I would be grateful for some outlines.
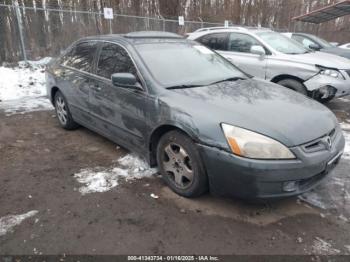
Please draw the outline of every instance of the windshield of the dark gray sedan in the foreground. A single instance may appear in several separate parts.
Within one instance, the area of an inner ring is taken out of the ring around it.
[[[190,42],[136,45],[153,77],[164,87],[202,86],[248,78],[205,46]]]

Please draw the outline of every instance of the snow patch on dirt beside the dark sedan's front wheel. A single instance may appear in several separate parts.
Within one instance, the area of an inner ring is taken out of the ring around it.
[[[117,160],[118,166],[112,168],[86,168],[74,177],[81,184],[79,192],[82,195],[95,192],[106,192],[116,187],[120,179],[126,181],[151,177],[157,172],[140,158],[129,154]]]

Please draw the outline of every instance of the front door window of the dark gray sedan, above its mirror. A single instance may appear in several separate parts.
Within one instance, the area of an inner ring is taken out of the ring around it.
[[[131,73],[136,68],[127,51],[117,44],[104,44],[97,65],[97,75],[111,79],[114,73]]]

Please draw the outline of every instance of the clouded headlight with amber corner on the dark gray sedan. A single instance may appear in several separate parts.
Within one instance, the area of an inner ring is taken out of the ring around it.
[[[255,159],[295,159],[294,154],[280,142],[258,133],[221,124],[232,152]]]

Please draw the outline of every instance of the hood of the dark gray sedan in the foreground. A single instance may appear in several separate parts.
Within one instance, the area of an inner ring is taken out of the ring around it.
[[[191,125],[195,124],[198,136],[206,141],[222,141],[217,128],[227,123],[292,147],[322,137],[337,125],[334,114],[322,104],[265,80],[223,82],[167,93],[166,103],[191,116]]]

